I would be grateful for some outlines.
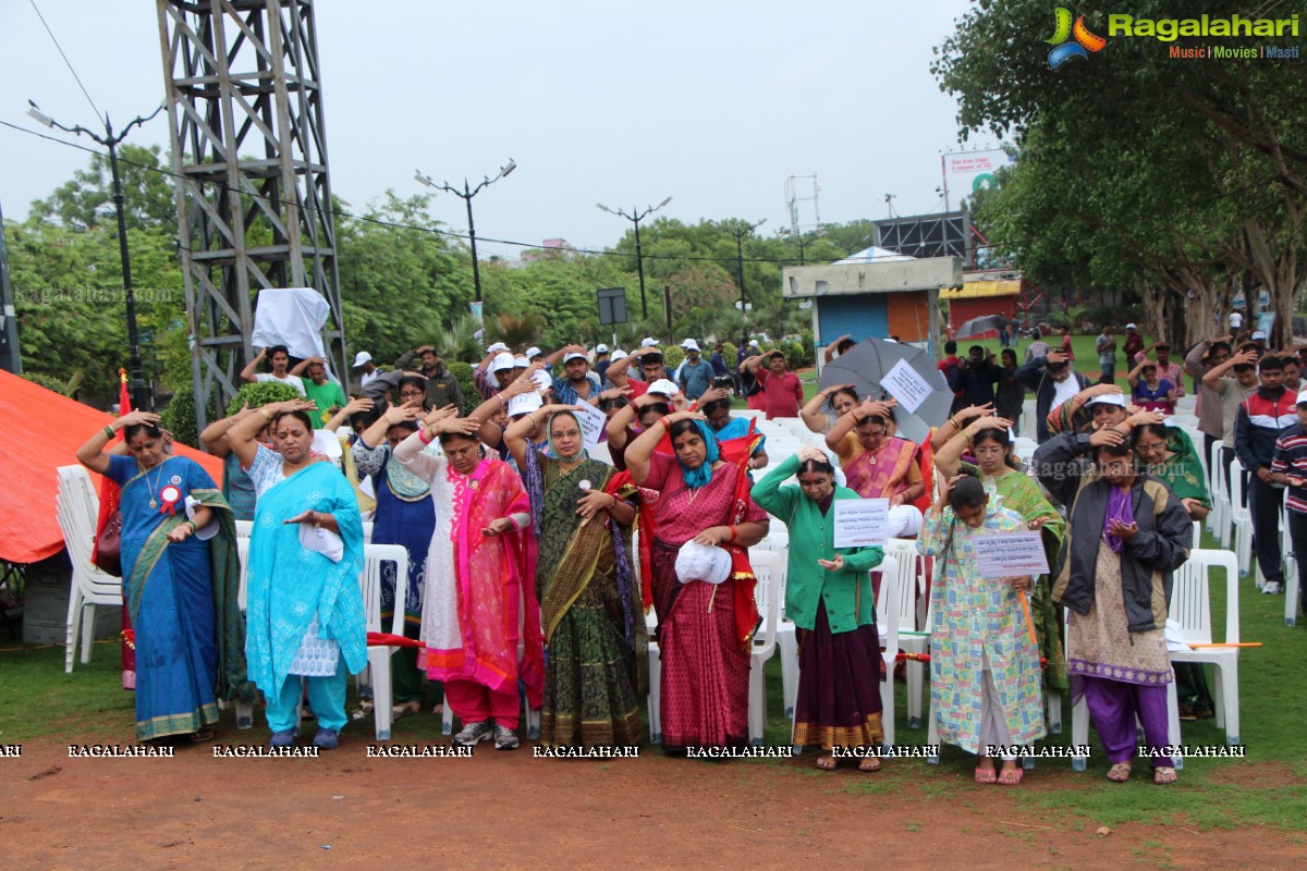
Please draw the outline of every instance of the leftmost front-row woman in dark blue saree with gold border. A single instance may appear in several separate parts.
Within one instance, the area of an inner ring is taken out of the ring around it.
[[[123,590],[136,635],[136,739],[213,738],[220,699],[252,700],[237,607],[231,509],[209,474],[163,451],[158,415],[132,411],[77,460],[122,487]],[[128,453],[105,448],[122,432]]]

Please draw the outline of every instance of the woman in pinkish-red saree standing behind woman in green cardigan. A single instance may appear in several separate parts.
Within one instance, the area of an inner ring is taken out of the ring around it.
[[[826,447],[839,457],[850,490],[863,499],[889,499],[890,507],[910,505],[925,495],[919,448],[890,435],[894,409],[887,402],[863,402],[826,434]]]

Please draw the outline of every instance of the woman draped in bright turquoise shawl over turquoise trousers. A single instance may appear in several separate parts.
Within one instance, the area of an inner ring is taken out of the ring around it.
[[[363,524],[345,477],[310,451],[303,400],[276,402],[227,434],[257,503],[246,569],[246,657],[268,704],[272,747],[294,743],[299,679],[318,716],[314,746],[335,750],[346,722],[345,687],[367,665],[358,573]],[[269,424],[277,451],[255,440]]]

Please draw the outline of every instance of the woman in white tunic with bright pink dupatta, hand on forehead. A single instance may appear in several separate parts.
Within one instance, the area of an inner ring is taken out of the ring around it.
[[[531,503],[508,464],[481,457],[476,428],[464,418],[427,418],[395,448],[395,460],[430,482],[435,501],[425,555],[423,661],[427,676],[444,682],[446,703],[463,723],[454,743],[493,738],[495,750],[514,750],[518,680],[532,708],[540,708],[544,689],[540,607],[520,534],[531,524]],[[429,453],[437,437],[442,453]]]

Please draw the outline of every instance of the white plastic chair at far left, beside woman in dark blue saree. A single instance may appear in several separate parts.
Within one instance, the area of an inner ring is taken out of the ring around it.
[[[123,578],[102,572],[90,562],[95,521],[99,516],[99,498],[91,486],[90,474],[82,466],[59,467],[59,495],[55,504],[59,529],[68,548],[68,562],[73,565],[64,632],[64,673],[71,674],[78,636],[81,636],[82,665],[90,662],[90,645],[95,635],[95,606],[125,607],[125,603]]]

